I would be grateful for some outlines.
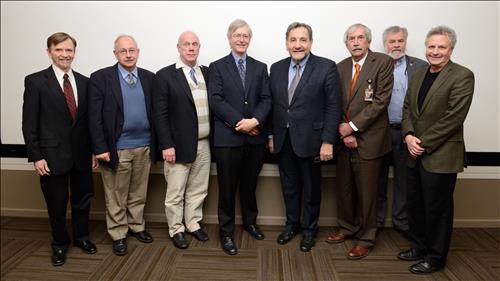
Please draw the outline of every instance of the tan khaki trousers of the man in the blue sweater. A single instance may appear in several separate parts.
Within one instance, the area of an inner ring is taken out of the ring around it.
[[[106,199],[106,224],[111,239],[127,237],[128,229],[143,231],[144,205],[151,160],[149,147],[118,150],[116,170],[101,167]]]

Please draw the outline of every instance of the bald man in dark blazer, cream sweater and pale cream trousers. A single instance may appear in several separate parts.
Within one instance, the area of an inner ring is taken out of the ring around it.
[[[208,240],[200,227],[210,176],[208,68],[198,65],[200,40],[194,32],[179,36],[177,50],[177,62],[153,79],[153,120],[165,161],[169,235],[176,247],[186,249],[186,229],[196,239]]]

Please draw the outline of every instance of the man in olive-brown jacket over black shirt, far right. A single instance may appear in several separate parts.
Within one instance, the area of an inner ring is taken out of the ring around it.
[[[453,230],[453,191],[466,165],[463,123],[472,103],[474,74],[450,60],[453,29],[432,28],[425,40],[429,68],[410,81],[403,107],[408,146],[408,223],[411,249],[398,254],[418,261],[416,274],[441,270]]]

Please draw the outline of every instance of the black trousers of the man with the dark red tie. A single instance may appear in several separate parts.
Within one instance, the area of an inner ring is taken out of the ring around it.
[[[90,200],[94,196],[92,173],[77,171],[73,167],[65,175],[40,177],[40,186],[52,227],[52,246],[65,247],[71,241],[66,230],[68,197],[71,203],[73,239],[88,239]]]

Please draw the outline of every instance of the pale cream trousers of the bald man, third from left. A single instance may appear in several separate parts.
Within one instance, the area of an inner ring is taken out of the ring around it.
[[[208,139],[198,141],[193,163],[171,164],[165,161],[165,215],[170,237],[176,233],[200,229],[203,201],[208,192],[210,176],[210,145]],[[184,219],[184,224],[182,220]]]

